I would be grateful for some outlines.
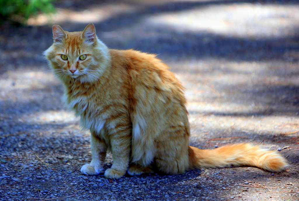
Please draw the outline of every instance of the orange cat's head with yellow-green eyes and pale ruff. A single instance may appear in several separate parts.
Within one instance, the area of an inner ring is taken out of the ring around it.
[[[91,23],[84,31],[68,32],[53,26],[54,43],[44,52],[54,74],[63,81],[82,82],[100,79],[110,61],[109,50],[95,33]]]

